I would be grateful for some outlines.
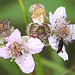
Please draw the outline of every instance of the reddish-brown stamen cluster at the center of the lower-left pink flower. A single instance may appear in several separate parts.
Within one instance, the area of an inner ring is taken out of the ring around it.
[[[24,44],[20,42],[13,42],[9,46],[10,56],[12,58],[18,57],[26,52]]]

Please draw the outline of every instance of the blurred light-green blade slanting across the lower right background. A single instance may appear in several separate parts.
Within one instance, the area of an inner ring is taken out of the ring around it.
[[[58,71],[59,75],[61,75],[61,74],[63,74],[63,73],[68,71],[67,68],[65,68],[65,67],[63,67],[63,66],[61,66],[61,65],[59,65],[59,64],[57,64],[55,62],[49,61],[49,60],[47,60],[45,58],[41,58],[41,61],[42,61],[42,64],[44,66],[46,66],[46,67],[48,67],[48,68],[50,68],[52,70]],[[74,74],[75,74],[75,72],[73,72],[73,71],[69,72],[69,75],[74,75]]]

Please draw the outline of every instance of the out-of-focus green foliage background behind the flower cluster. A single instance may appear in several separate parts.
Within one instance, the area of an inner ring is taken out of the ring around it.
[[[29,7],[33,3],[41,3],[46,12],[54,13],[56,8],[66,8],[67,20],[75,24],[75,0],[23,0],[27,16],[30,17]],[[25,35],[25,22],[18,0],[0,0],[0,19],[10,18],[10,24]],[[66,46],[69,60],[64,61],[51,47],[44,47],[40,53],[44,75],[75,75],[75,41]],[[35,62],[36,63],[36,62]],[[0,75],[25,75],[10,59],[0,58]]]

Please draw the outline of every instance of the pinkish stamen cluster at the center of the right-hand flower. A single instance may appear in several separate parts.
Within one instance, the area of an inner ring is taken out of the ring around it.
[[[61,37],[66,38],[69,35],[70,29],[67,27],[68,24],[69,22],[67,22],[66,20],[62,18],[56,21],[55,35],[57,39]]]

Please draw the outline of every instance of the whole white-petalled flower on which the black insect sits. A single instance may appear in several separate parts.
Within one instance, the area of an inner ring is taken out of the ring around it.
[[[75,25],[69,25],[70,21],[68,22],[65,20],[67,17],[65,7],[57,8],[54,14],[50,12],[49,17],[52,35],[48,38],[48,40],[51,47],[57,52],[59,49],[59,40],[61,38],[63,38],[62,41],[66,44],[68,42],[71,42],[71,40],[75,40]],[[65,61],[68,60],[68,54],[65,51],[64,45],[62,46],[61,51],[58,53],[58,55],[62,57]]]

